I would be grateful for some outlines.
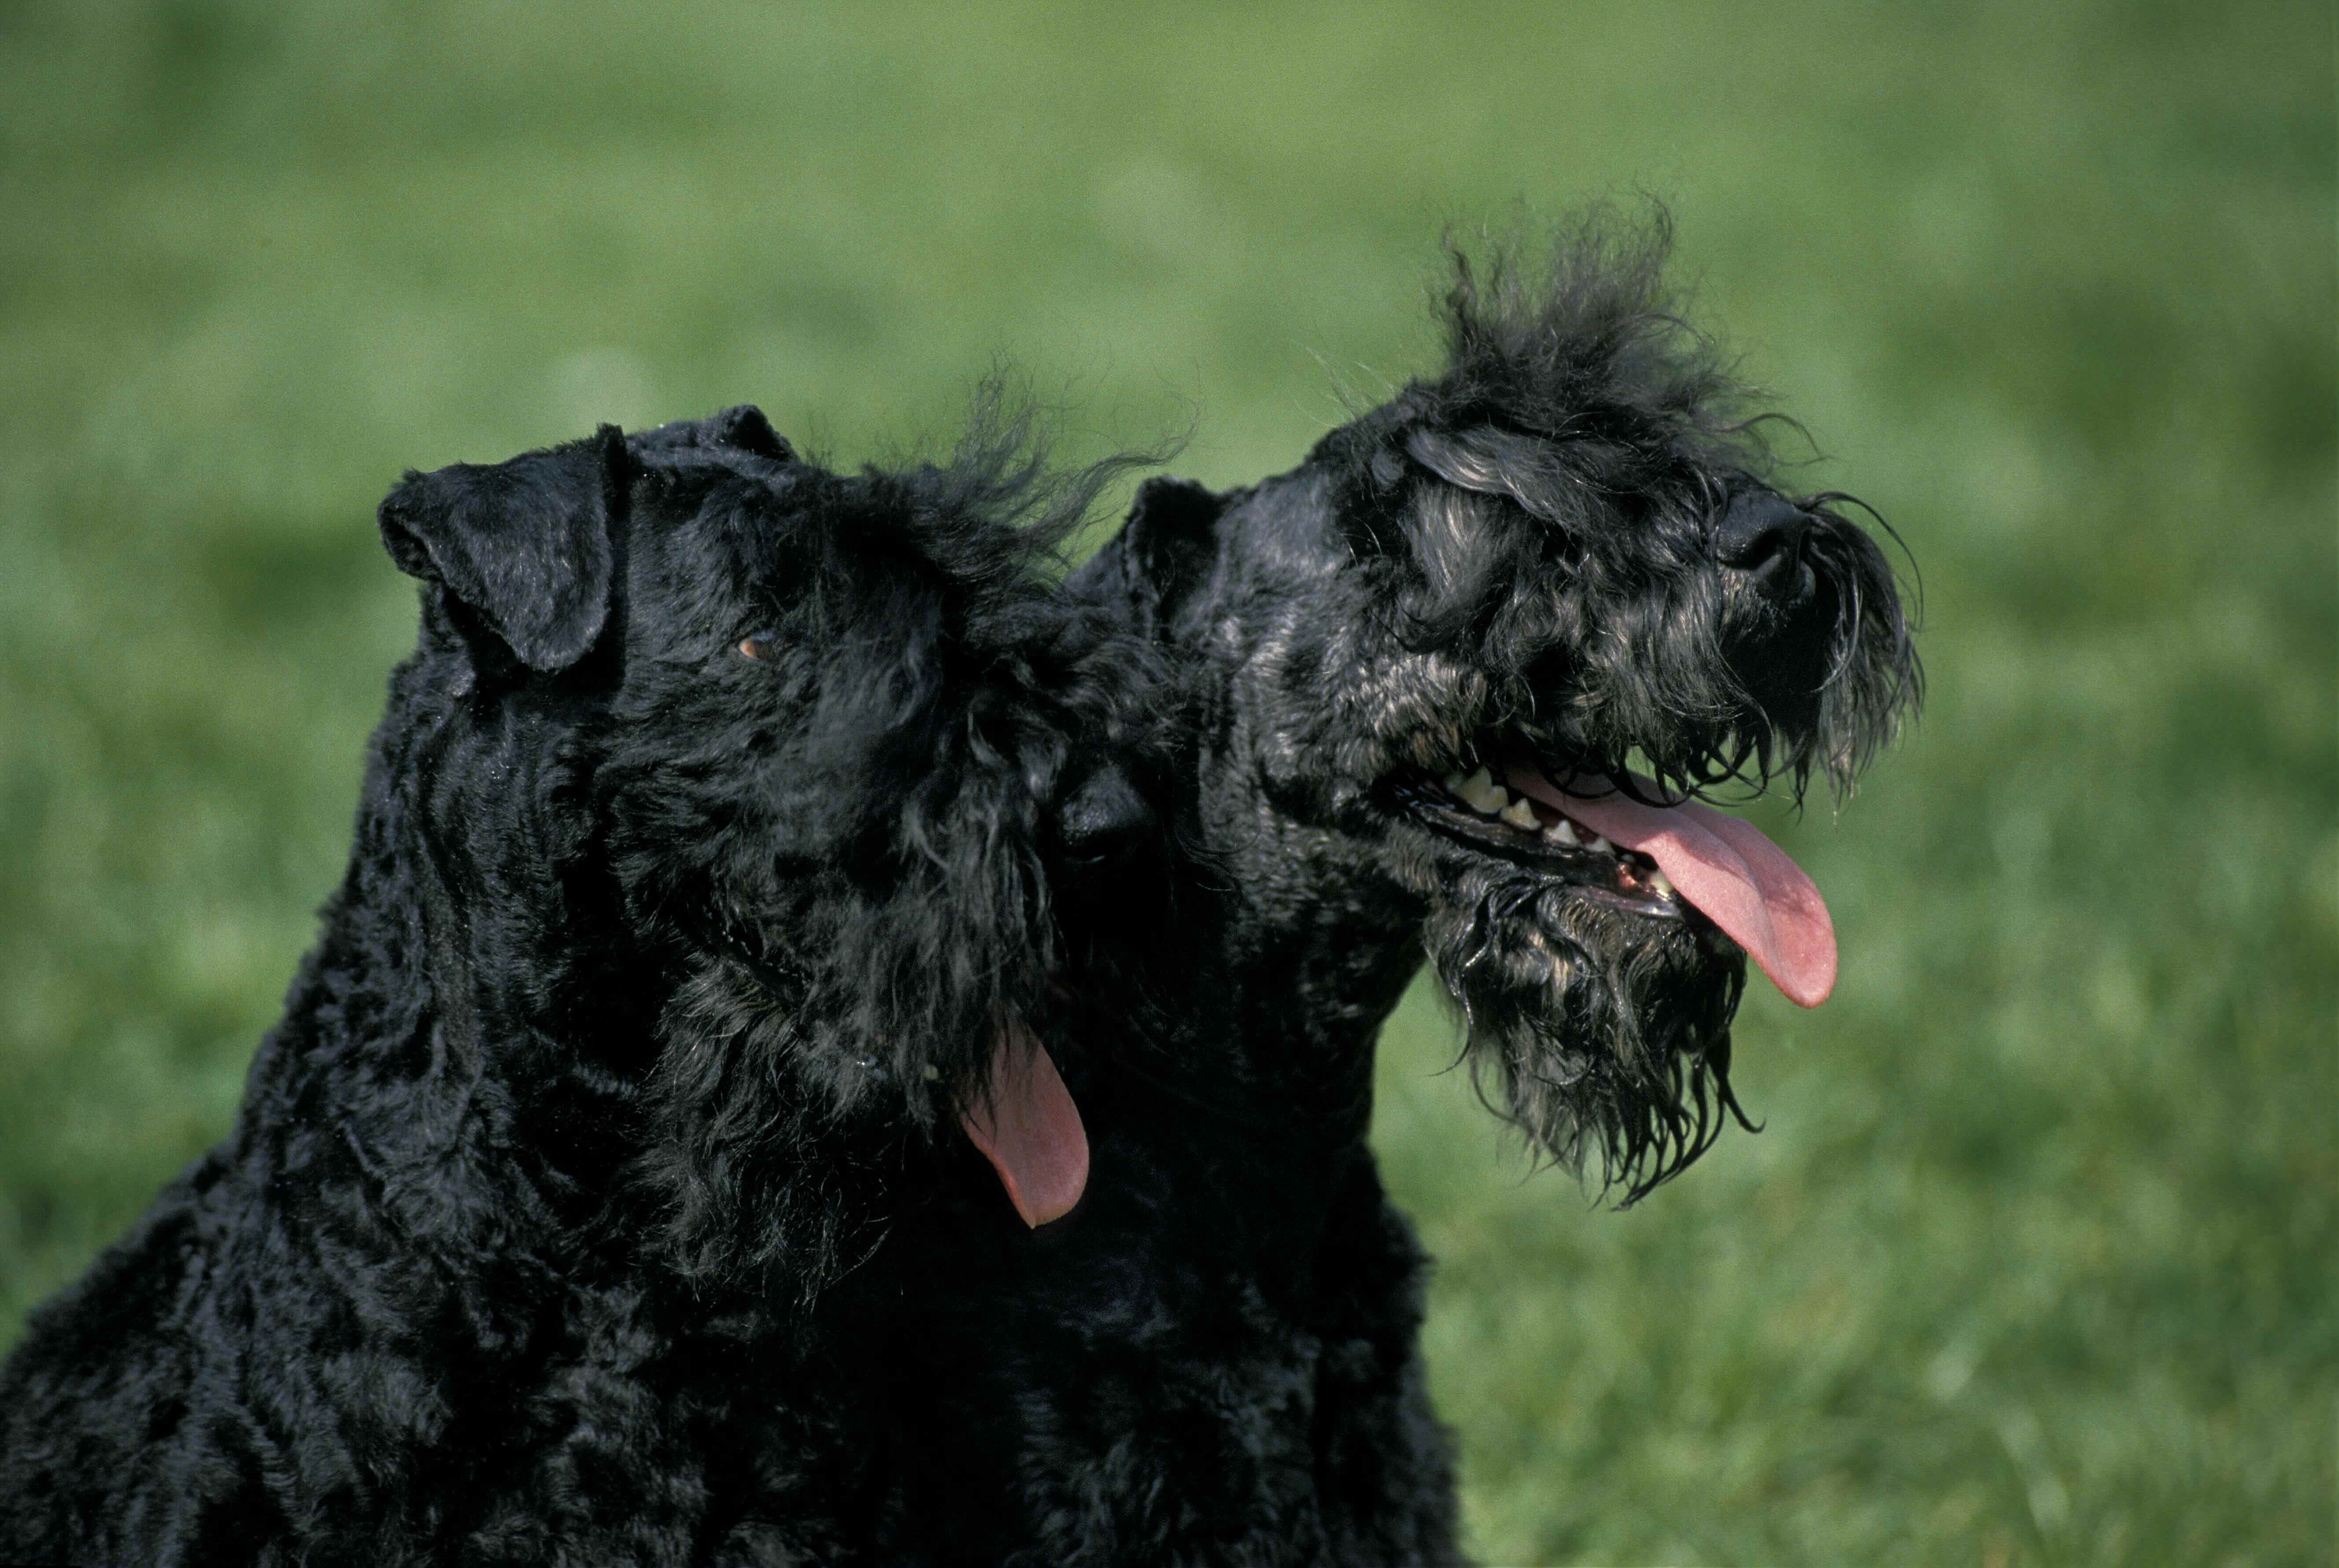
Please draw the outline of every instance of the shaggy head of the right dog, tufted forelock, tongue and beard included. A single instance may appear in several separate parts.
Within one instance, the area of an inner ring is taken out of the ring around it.
[[[1663,250],[1457,255],[1441,377],[1254,489],[1148,484],[1078,580],[1200,660],[1237,885],[1399,894],[1506,1114],[1633,1196],[1736,1109],[1745,955],[1834,983],[1817,892],[1696,796],[1843,789],[1920,686],[1857,503],[1771,480]]]

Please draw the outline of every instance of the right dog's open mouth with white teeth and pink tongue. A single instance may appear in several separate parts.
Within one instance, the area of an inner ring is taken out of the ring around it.
[[[1637,775],[1633,793],[1593,775],[1562,789],[1523,749],[1490,754],[1497,761],[1469,770],[1399,779],[1399,807],[1443,838],[1565,878],[1581,896],[1651,917],[1696,908],[1799,1006],[1834,990],[1827,903],[1761,828],[1703,800],[1651,805],[1665,791]]]

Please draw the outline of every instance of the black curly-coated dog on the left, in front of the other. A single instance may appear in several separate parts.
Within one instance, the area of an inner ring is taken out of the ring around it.
[[[891,1390],[954,1282],[821,1287],[903,1205],[1078,1196],[1034,1030],[1151,835],[1146,660],[1036,571],[1095,477],[1015,438],[842,477],[734,410],[391,494],[428,587],[349,875],[232,1137],[0,1374],[0,1561],[947,1540],[903,1446],[952,1395]]]

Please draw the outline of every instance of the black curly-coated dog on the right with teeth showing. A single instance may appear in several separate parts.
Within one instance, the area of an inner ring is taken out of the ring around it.
[[[1848,496],[1766,480],[1663,255],[1586,222],[1460,264],[1441,377],[1263,484],[1146,484],[1074,578],[1181,669],[1186,740],[1172,920],[1085,1025],[1125,1098],[1078,1264],[1001,1388],[1053,1411],[996,1460],[1034,1561],[1457,1556],[1424,1259],[1366,1149],[1424,950],[1488,1098],[1628,1198],[1736,1112],[1745,957],[1834,983],[1817,889],[1693,796],[1848,786],[1918,662]]]

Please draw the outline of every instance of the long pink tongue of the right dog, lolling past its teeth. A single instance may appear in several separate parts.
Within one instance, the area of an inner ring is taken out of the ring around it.
[[[1569,796],[1534,768],[1509,768],[1511,789],[1567,812],[1593,833],[1656,861],[1684,899],[1747,950],[1796,1006],[1820,1006],[1836,988],[1836,922],[1820,889],[1785,850],[1705,805],[1642,805],[1628,796]],[[1633,775],[1647,796],[1663,793]]]

